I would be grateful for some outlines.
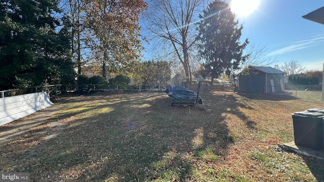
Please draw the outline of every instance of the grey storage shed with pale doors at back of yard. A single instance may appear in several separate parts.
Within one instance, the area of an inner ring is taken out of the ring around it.
[[[249,66],[238,74],[238,92],[283,93],[285,74],[268,66]]]

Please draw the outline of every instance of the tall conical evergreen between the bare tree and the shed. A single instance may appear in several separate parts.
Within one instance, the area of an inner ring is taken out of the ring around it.
[[[228,3],[220,0],[209,4],[200,19],[199,53],[206,61],[205,69],[212,76],[211,83],[224,71],[228,77],[235,77],[233,70],[246,59],[242,53],[249,43],[248,39],[242,44],[239,42],[242,25],[238,24]]]

